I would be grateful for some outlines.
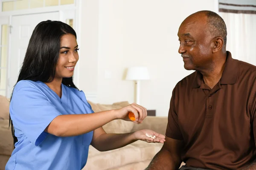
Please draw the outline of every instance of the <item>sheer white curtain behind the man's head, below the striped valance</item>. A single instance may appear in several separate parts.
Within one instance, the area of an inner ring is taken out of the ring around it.
[[[227,51],[235,59],[256,65],[256,14],[219,14],[227,25]]]

